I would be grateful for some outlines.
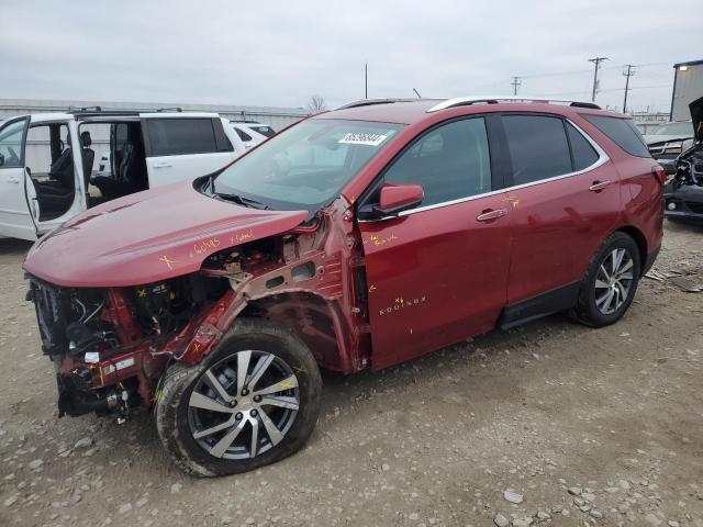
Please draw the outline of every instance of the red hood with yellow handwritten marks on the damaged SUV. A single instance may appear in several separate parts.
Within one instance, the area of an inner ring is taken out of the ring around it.
[[[40,239],[24,269],[63,287],[125,287],[200,269],[224,248],[281,234],[308,211],[260,211],[196,191],[192,182],[120,198]]]

